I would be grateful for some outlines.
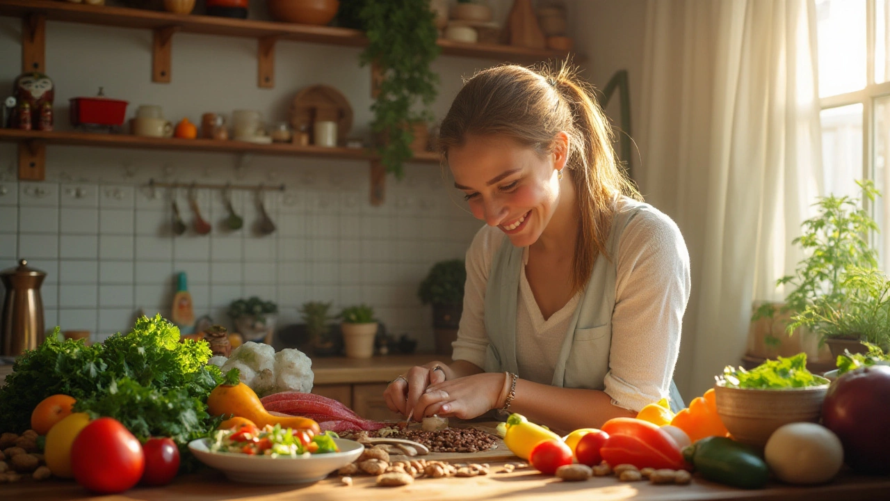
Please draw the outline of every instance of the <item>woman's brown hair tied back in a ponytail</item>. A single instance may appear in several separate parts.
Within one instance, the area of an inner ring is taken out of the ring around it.
[[[597,255],[611,259],[606,241],[616,197],[642,200],[619,167],[611,126],[594,89],[577,70],[564,63],[556,71],[515,65],[479,71],[457,93],[442,121],[439,149],[447,162],[449,149],[464,144],[467,136],[509,136],[545,156],[562,131],[570,138],[566,168],[581,214],[572,261],[577,292],[587,285]]]

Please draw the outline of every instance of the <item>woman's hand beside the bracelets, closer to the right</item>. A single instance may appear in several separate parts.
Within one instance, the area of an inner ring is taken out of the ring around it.
[[[432,384],[417,400],[415,419],[441,415],[473,419],[498,406],[504,388],[503,373],[473,374]]]

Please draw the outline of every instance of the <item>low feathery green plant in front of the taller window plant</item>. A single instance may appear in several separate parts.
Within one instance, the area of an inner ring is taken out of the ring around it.
[[[845,351],[867,353],[870,343],[890,349],[890,281],[877,268],[847,267],[839,298],[820,296],[795,315],[790,328],[808,326],[829,343],[837,358]]]

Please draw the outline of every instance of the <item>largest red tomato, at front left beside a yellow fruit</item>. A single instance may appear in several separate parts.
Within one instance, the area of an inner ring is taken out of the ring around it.
[[[94,492],[124,492],[136,485],[144,470],[145,455],[139,440],[110,417],[87,424],[71,445],[74,479]]]

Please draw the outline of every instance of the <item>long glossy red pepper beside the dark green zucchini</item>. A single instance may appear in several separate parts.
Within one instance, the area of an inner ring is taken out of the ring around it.
[[[600,454],[611,466],[633,464],[637,468],[691,470],[676,441],[658,425],[630,417],[617,417],[600,428],[609,439]]]

